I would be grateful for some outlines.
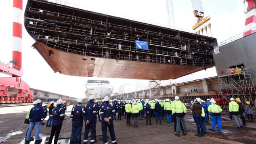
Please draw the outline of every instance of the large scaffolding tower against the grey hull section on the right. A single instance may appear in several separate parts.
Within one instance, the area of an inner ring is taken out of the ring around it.
[[[230,98],[240,98],[241,102],[249,101],[255,107],[256,90],[250,70],[238,69],[226,69],[217,73],[224,106],[228,106]]]

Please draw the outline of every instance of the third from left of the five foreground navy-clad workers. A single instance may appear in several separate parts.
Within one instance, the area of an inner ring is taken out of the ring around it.
[[[81,132],[83,129],[83,102],[82,98],[78,98],[78,103],[72,108],[70,117],[72,118],[72,130],[70,136],[70,144],[75,142],[81,144]]]

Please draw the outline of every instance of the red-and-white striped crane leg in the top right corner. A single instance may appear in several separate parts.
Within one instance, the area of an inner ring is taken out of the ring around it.
[[[246,11],[246,24],[243,36],[250,35],[256,32],[256,0],[246,0],[248,3],[247,11]]]

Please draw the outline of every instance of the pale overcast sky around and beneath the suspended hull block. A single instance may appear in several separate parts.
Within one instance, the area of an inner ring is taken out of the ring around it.
[[[54,1],[54,0],[52,0]],[[64,1],[64,0],[58,0]],[[27,0],[23,0],[23,11]],[[165,0],[69,0],[69,3],[84,6],[87,10],[102,13],[114,13],[120,17],[150,21],[168,25]],[[246,14],[245,6],[241,0],[202,0],[205,15],[210,15],[212,35],[218,42],[242,33],[244,31]],[[176,27],[192,30],[197,18],[193,15],[191,0],[173,0]],[[12,21],[13,0],[5,0],[0,5],[0,61],[7,63],[12,58]],[[110,79],[94,77],[73,77],[54,73],[42,56],[31,45],[34,40],[23,27],[23,80],[31,88],[55,92],[74,97],[84,97],[87,79],[109,80],[114,86],[114,92],[122,84],[134,83],[134,79]],[[174,81],[188,81],[216,75],[215,67],[206,71],[199,71]],[[0,77],[6,77],[0,74]],[[162,81],[164,85],[170,80]],[[147,85],[145,85],[147,88]]]

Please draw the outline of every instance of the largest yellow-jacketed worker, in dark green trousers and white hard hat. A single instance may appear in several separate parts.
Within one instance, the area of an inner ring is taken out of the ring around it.
[[[187,127],[184,119],[184,116],[187,113],[187,107],[183,102],[180,101],[180,97],[175,96],[174,100],[175,101],[172,104],[172,114],[176,116],[177,126],[178,126],[178,131],[177,131],[177,134],[175,134],[175,136],[180,137],[180,121],[183,123],[183,128],[184,128],[183,136],[187,136]]]

